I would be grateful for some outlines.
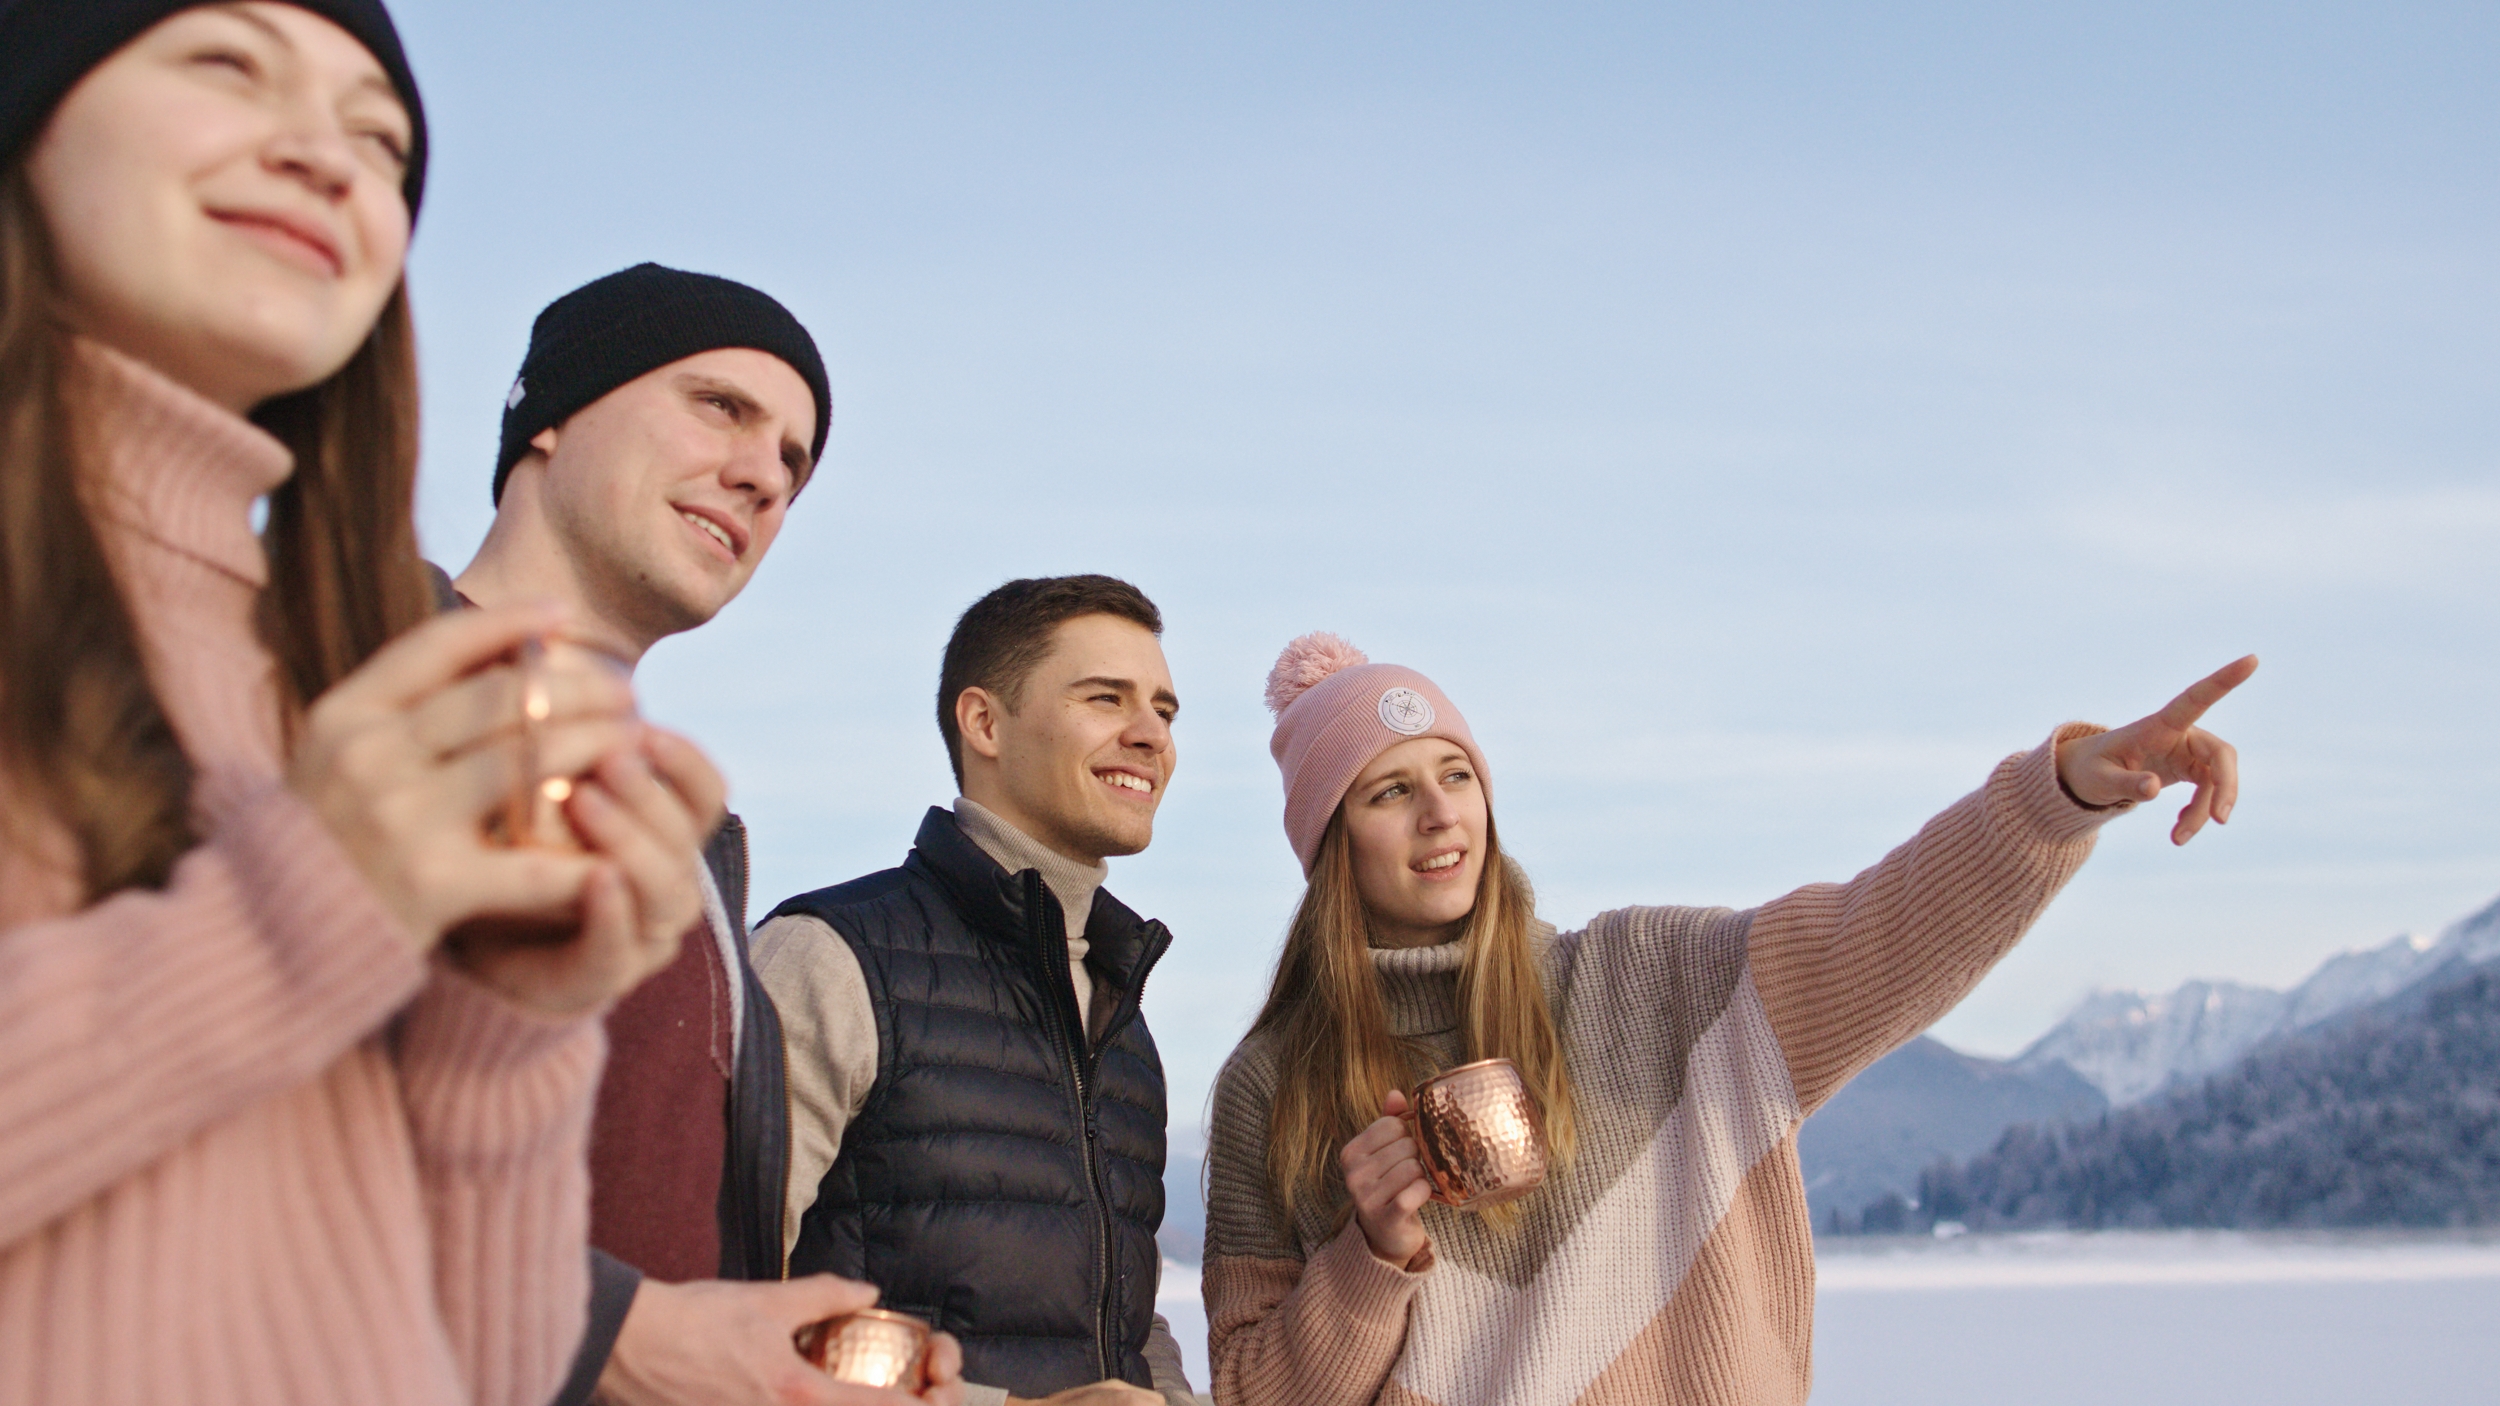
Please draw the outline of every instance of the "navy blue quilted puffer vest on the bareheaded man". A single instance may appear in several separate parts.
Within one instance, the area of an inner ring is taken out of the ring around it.
[[[800,1221],[790,1273],[840,1273],[962,1338],[965,1381],[1152,1386],[1162,1058],[1138,993],[1172,936],[1095,893],[1092,1048],[1060,906],[930,811],[902,868],[790,898],[860,958],[878,1083]]]

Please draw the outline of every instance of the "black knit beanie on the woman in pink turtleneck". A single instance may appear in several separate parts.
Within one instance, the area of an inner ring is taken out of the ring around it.
[[[42,133],[52,108],[78,88],[78,80],[112,53],[140,38],[158,20],[205,0],[0,0],[0,170],[25,155]],[[355,35],[408,105],[408,218],[418,218],[425,195],[425,105],[418,80],[408,73],[400,30],[380,0],[288,0]]]

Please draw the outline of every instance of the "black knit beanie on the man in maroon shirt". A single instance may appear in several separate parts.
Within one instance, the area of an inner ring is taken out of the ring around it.
[[[495,500],[538,430],[562,425],[575,410],[638,375],[718,348],[752,348],[790,363],[815,393],[810,458],[825,458],[832,385],[815,338],[788,308],[745,283],[638,263],[565,293],[530,325],[530,355],[502,398],[502,453],[495,458]]]

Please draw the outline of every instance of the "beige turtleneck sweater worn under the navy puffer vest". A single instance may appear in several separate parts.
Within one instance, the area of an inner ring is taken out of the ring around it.
[[[1092,951],[1085,921],[1092,916],[1095,891],[1110,878],[1110,866],[1072,861],[965,796],[955,798],[955,823],[1008,873],[1040,871],[1050,896],[1060,901],[1068,928],[1068,981],[1078,1011],[1085,1011],[1088,1028],[1100,1033],[1115,993],[1095,983],[1092,968],[1085,966],[1085,953]],[[782,1258],[788,1258],[798,1246],[800,1216],[815,1206],[815,1188],[842,1151],[842,1128],[860,1116],[878,1083],[878,1011],[868,1001],[858,953],[820,918],[785,916],[755,928],[755,976],[772,993],[782,1036],[790,1041],[790,1203],[782,1213]],[[1195,1401],[1180,1366],[1180,1343],[1160,1313],[1155,1336],[1145,1343],[1145,1361],[1165,1401]],[[1005,1398],[998,1386],[965,1388],[965,1406],[998,1406]]]

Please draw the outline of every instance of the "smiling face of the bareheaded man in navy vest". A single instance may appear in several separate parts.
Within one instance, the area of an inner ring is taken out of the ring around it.
[[[1172,781],[1178,713],[1152,630],[1118,615],[1060,620],[1015,698],[955,698],[962,793],[1068,858],[1138,853]]]

